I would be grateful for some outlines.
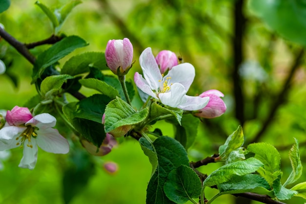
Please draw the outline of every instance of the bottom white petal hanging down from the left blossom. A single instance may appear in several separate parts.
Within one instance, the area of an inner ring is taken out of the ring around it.
[[[24,141],[23,145],[23,157],[20,161],[19,167],[28,168],[30,170],[34,169],[37,161],[37,145],[36,139],[31,139],[32,147],[28,147],[27,140]]]

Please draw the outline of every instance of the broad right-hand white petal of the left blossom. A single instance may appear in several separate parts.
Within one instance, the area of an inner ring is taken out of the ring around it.
[[[46,152],[56,154],[66,154],[69,152],[68,141],[56,129],[46,128],[37,131],[36,140],[37,145]]]

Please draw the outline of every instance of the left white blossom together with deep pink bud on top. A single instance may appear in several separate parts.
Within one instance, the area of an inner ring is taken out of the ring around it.
[[[19,167],[28,169],[34,169],[37,162],[37,146],[50,153],[68,153],[69,144],[66,138],[61,136],[58,130],[52,128],[56,124],[56,118],[49,113],[42,113],[20,124],[26,119],[22,119],[17,113],[21,113],[24,118],[29,118],[25,109],[15,107],[7,113],[11,114],[12,117],[9,120],[13,125],[4,126],[0,130],[0,151],[16,147],[23,148],[23,157]]]

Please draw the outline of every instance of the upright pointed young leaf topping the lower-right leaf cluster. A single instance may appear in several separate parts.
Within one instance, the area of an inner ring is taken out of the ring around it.
[[[219,147],[219,158],[216,160],[225,161],[232,151],[237,150],[242,146],[244,142],[242,127],[239,126],[238,129],[228,136],[225,143]]]

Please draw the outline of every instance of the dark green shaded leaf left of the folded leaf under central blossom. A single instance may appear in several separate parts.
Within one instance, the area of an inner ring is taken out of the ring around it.
[[[103,113],[110,101],[108,96],[102,94],[89,96],[77,102],[74,116],[102,123]]]

